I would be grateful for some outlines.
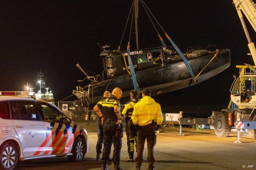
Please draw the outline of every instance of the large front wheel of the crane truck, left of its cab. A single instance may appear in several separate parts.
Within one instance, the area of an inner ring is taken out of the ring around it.
[[[214,118],[213,125],[215,134],[219,137],[227,137],[231,133],[227,112],[218,112]]]

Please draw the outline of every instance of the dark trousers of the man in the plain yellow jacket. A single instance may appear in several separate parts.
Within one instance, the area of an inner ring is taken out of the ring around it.
[[[137,157],[135,159],[137,164],[142,164],[143,161],[143,150],[145,139],[148,143],[148,163],[154,163],[154,145],[157,142],[157,136],[155,135],[155,130],[150,127],[138,127],[137,131]]]

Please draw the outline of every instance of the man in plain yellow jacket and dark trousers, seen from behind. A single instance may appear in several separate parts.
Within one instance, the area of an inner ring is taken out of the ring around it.
[[[160,105],[151,98],[151,91],[144,89],[142,99],[134,105],[131,119],[137,127],[136,170],[141,170],[145,139],[148,143],[148,170],[154,170],[154,145],[157,141],[155,132],[163,122]]]

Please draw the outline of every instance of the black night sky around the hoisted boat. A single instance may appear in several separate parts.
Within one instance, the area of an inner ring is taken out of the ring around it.
[[[188,47],[217,45],[231,49],[231,66],[220,74],[189,88],[153,98],[163,112],[220,110],[230,101],[235,65],[253,60],[232,0],[144,0],[148,8],[181,51]],[[35,87],[41,69],[55,101],[72,94],[76,85],[88,82],[76,67],[102,73],[101,49],[117,49],[131,8],[129,0],[0,1],[0,91],[23,91]],[[246,20],[246,19],[245,19]],[[161,46],[157,33],[139,5],[139,46]],[[248,23],[248,22],[247,22]],[[252,41],[255,31],[247,24]],[[121,49],[128,43],[130,23]],[[171,45],[160,28],[166,45]],[[135,49],[134,29],[131,49]],[[90,74],[93,76],[93,74]],[[39,86],[36,86],[36,91]],[[70,97],[69,100],[74,100]]]

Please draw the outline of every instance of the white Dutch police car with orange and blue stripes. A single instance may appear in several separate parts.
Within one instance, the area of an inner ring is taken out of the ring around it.
[[[87,131],[55,105],[29,94],[0,91],[0,169],[53,156],[82,161],[89,148]]]

